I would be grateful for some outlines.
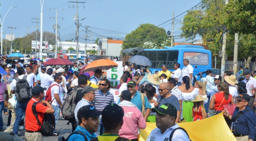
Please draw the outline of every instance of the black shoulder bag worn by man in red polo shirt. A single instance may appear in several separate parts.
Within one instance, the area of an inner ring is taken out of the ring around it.
[[[37,123],[39,124],[39,126],[41,126],[40,132],[43,136],[51,136],[53,134],[53,131],[55,130],[55,116],[54,114],[44,114],[43,124],[41,125],[36,111],[37,103],[38,102],[33,103],[32,111],[37,119]]]

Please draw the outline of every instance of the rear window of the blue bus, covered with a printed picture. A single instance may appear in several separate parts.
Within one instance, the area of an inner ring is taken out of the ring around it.
[[[208,65],[209,64],[209,56],[206,53],[184,52],[183,58],[188,59],[190,65]]]

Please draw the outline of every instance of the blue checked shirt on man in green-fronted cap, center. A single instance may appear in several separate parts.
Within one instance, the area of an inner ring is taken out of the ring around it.
[[[138,107],[138,109],[140,111],[142,111],[142,100],[141,100],[141,93],[136,91],[136,94],[133,96],[131,102],[136,105]],[[120,103],[120,98],[118,100],[118,104]],[[151,109],[151,105],[148,101],[148,98],[146,97],[146,95],[144,95],[144,105],[145,105],[145,109],[150,108]]]

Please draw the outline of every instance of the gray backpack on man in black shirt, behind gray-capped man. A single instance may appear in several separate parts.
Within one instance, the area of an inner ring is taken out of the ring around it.
[[[70,118],[75,117],[75,100],[77,97],[77,91],[82,89],[83,88],[81,87],[74,88],[65,98],[65,101],[63,102],[61,107],[61,113],[65,120],[69,120]]]

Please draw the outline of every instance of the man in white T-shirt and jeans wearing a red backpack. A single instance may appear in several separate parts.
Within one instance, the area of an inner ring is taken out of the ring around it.
[[[61,91],[61,88],[60,88],[60,83],[61,82],[62,82],[61,75],[60,74],[55,74],[54,75],[54,82],[50,86],[50,88],[51,88],[51,99],[52,99],[51,105],[54,109],[55,124],[59,120],[60,108],[62,107],[62,102],[63,102],[63,95],[62,95],[62,91]],[[57,134],[56,131],[54,131],[53,135],[54,134]]]

